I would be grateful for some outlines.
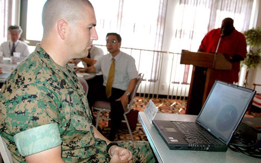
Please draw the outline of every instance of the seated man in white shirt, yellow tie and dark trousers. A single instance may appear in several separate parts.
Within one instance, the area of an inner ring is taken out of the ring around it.
[[[99,72],[103,74],[103,86],[94,95],[95,101],[105,100],[111,104],[112,127],[109,140],[115,139],[115,133],[120,127],[130,94],[133,91],[138,78],[135,60],[130,55],[120,51],[121,37],[117,33],[108,33],[106,36],[106,47],[110,52],[102,56],[94,66],[85,68],[86,72]],[[114,62],[113,78],[110,80],[110,69]],[[112,82],[110,94],[107,94],[108,83]],[[88,99],[89,106],[94,103]]]

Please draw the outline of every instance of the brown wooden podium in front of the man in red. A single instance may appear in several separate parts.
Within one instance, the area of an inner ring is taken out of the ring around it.
[[[186,50],[181,52],[180,64],[193,65],[186,114],[198,115],[217,75],[224,70],[231,70],[232,65],[221,53]]]

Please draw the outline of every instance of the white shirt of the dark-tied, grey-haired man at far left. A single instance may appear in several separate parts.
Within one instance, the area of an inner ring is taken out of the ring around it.
[[[3,52],[3,57],[10,57],[12,46],[13,42],[11,40],[8,40],[1,44],[0,51]],[[15,52],[21,53],[20,57],[27,57],[30,54],[28,45],[20,40],[17,40],[15,42]]]

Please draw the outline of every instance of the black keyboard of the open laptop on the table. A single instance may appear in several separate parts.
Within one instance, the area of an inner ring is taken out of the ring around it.
[[[172,121],[172,123],[184,134],[189,144],[220,145],[208,133],[202,132],[194,122]]]

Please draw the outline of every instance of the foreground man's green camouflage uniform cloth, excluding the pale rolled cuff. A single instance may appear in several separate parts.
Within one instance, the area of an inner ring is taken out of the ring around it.
[[[106,142],[94,137],[91,112],[76,73],[69,66],[67,71],[71,78],[37,45],[5,81],[0,92],[0,131],[14,162],[25,159],[19,154],[13,136],[54,122],[59,124],[65,162],[110,161]],[[136,151],[135,162],[154,160],[147,142],[122,145],[130,145],[128,149]]]

